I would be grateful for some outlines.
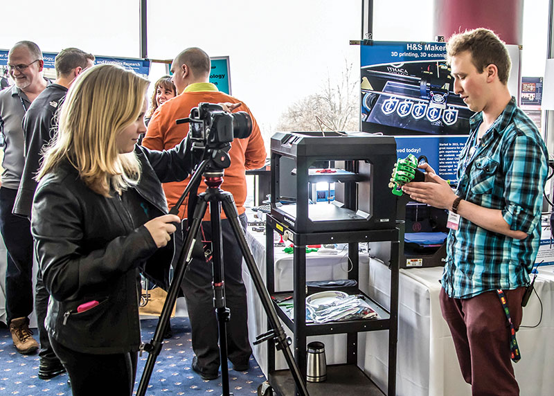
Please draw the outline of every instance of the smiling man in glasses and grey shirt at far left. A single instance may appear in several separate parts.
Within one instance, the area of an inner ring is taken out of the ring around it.
[[[12,214],[24,168],[22,120],[31,102],[44,91],[44,61],[37,44],[16,43],[8,53],[8,71],[15,82],[0,92],[0,132],[4,139],[2,186],[0,188],[0,232],[8,260],[6,266],[6,314],[12,340],[21,354],[39,347],[29,330],[33,312],[33,237],[28,219]]]

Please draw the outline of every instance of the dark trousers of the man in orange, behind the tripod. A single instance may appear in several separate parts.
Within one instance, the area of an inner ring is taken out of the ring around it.
[[[246,229],[247,217],[239,217]],[[223,262],[226,307],[231,310],[231,320],[227,327],[227,353],[233,364],[248,362],[252,348],[248,339],[247,291],[242,282],[242,252],[235,239],[231,223],[222,219]],[[202,222],[204,239],[212,240],[210,222]],[[182,238],[182,237],[181,237]],[[175,240],[177,253],[183,244],[179,237]],[[177,254],[176,254],[177,255]],[[199,366],[216,372],[220,367],[220,349],[217,346],[217,318],[213,306],[212,265],[205,260],[193,259],[188,265],[182,289],[185,294],[190,327],[192,328],[193,350]]]

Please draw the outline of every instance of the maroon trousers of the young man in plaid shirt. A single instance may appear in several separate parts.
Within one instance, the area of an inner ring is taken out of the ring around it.
[[[504,290],[515,330],[523,314],[524,287]],[[450,327],[458,362],[472,395],[519,395],[510,361],[510,325],[497,291],[472,298],[450,298],[440,289],[440,309]]]

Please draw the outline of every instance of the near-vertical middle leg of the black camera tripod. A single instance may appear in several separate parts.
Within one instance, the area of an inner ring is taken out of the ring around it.
[[[229,308],[225,305],[223,240],[221,231],[221,203],[217,195],[210,199],[210,222],[212,232],[212,265],[213,265],[213,306],[217,318],[217,330],[220,334],[220,361],[222,377],[222,395],[229,395],[229,367],[227,366],[227,325]]]

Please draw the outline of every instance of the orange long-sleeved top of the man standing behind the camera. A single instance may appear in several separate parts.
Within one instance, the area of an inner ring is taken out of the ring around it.
[[[217,87],[209,82],[200,82],[190,84],[179,96],[164,102],[154,111],[148,130],[143,138],[143,146],[152,150],[168,150],[181,143],[188,134],[188,124],[175,124],[175,120],[186,118],[190,114],[190,109],[197,107],[201,102],[221,103],[242,102],[233,96],[217,91]],[[265,145],[260,133],[260,127],[256,118],[252,115],[247,105],[238,107],[235,111],[247,111],[252,118],[252,134],[248,138],[235,138],[231,143],[229,156],[231,157],[231,166],[224,170],[222,190],[231,192],[235,199],[238,213],[244,213],[244,201],[247,197],[247,184],[245,171],[247,169],[261,168],[265,163],[266,152]],[[172,208],[177,204],[177,200],[183,194],[190,177],[185,181],[172,183],[163,183],[163,190],[166,192],[168,206]],[[200,183],[198,192],[204,192],[206,184]],[[209,208],[209,206],[208,206]],[[204,220],[209,220],[209,210],[206,210]],[[185,218],[187,213],[186,204],[179,208],[179,216]],[[225,215],[222,213],[222,218]]]

